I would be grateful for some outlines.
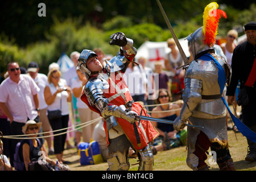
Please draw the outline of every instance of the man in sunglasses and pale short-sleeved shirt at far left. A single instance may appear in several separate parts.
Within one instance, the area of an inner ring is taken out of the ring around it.
[[[11,62],[7,65],[9,77],[0,85],[0,107],[11,123],[11,135],[22,135],[22,126],[26,121],[39,122],[39,87],[28,75],[20,75],[19,64]],[[18,139],[11,140],[10,162]]]

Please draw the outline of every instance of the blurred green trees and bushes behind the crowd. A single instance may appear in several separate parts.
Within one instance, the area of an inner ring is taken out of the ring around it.
[[[38,4],[46,4],[46,17],[38,16]],[[204,7],[211,1],[160,1],[178,38],[184,38],[202,26]],[[241,6],[234,1],[216,1],[228,15],[221,20],[219,36],[231,28],[255,20],[256,5],[244,0]],[[240,3],[241,4],[241,3]],[[170,31],[155,0],[63,0],[63,1],[4,1],[0,7],[0,72],[6,71],[9,61],[27,67],[30,61],[39,63],[40,72],[47,73],[48,65],[56,62],[62,52],[101,47],[115,55],[117,46],[109,46],[109,37],[121,31],[139,47],[145,40],[166,41]],[[242,33],[240,33],[242,34]]]

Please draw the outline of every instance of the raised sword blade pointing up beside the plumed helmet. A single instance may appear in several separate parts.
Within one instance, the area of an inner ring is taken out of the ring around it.
[[[174,38],[174,41],[175,41],[175,43],[176,43],[176,46],[177,46],[177,48],[178,48],[179,51],[180,51],[180,55],[181,55],[181,57],[182,57],[184,63],[187,64],[187,63],[188,63],[187,56],[185,55],[185,53],[184,53],[182,47],[180,46],[180,42],[179,42],[179,40],[177,39],[177,36],[176,36],[176,34],[175,34],[175,32],[174,32],[174,29],[172,28],[172,25],[171,25],[171,23],[170,23],[170,21],[169,21],[167,15],[166,15],[166,12],[164,12],[163,6],[162,6],[162,4],[160,3],[160,1],[159,1],[159,0],[156,0],[156,2],[158,3],[159,9],[160,9],[160,11],[161,11],[161,13],[162,13],[162,15],[163,15],[163,17],[164,17],[164,20],[166,21],[166,24],[167,24],[169,30],[171,31],[171,34],[172,34],[172,37]]]

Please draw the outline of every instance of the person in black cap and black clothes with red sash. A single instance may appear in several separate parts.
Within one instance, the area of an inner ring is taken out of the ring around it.
[[[240,80],[240,94],[237,104],[242,106],[242,121],[252,131],[256,132],[256,22],[245,24],[247,41],[239,44],[233,52],[232,78],[227,88],[229,104],[234,102],[234,92]],[[247,139],[249,145],[245,160],[256,160],[256,143]]]

